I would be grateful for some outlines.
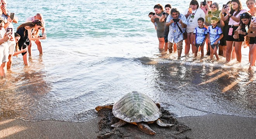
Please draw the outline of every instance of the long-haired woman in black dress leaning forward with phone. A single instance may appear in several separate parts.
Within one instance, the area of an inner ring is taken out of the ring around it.
[[[17,27],[16,33],[21,36],[18,44],[19,44],[19,50],[25,49],[30,44],[30,41],[40,40],[40,39],[46,39],[46,36],[43,37],[33,37],[38,36],[39,30],[42,29],[43,24],[40,20],[36,19],[33,22],[26,22],[24,24],[19,25]],[[28,65],[28,58],[27,58],[27,52],[21,53],[23,56],[24,64]]]

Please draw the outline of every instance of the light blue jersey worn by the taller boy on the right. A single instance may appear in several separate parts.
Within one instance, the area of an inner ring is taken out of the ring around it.
[[[208,33],[209,33],[209,36],[210,36],[211,45],[213,45],[214,42],[217,41],[217,39],[220,38],[220,36],[222,34],[222,31],[221,31],[221,28],[218,25],[214,28],[213,28],[212,25],[210,25],[208,27]],[[220,41],[218,41],[218,43],[220,43]]]

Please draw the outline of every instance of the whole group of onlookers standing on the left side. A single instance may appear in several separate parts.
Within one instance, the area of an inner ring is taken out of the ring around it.
[[[13,23],[18,23],[14,13],[7,10],[7,0],[1,0],[0,10],[0,77],[6,76],[12,67],[12,57],[22,54],[24,65],[28,65],[28,54],[34,41],[40,54],[43,54],[41,39],[46,39],[45,21],[42,14],[28,17],[25,23],[14,31]],[[42,35],[39,35],[42,30]]]

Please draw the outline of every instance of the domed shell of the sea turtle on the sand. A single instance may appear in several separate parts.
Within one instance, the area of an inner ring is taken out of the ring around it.
[[[150,122],[161,117],[162,112],[151,98],[143,93],[131,92],[114,103],[115,117],[126,122]]]

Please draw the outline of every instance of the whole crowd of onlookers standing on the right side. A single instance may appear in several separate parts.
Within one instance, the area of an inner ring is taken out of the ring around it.
[[[166,4],[165,9],[157,4],[149,17],[156,28],[161,52],[173,53],[177,49],[180,58],[185,41],[185,56],[189,55],[191,47],[195,57],[201,51],[201,58],[204,58],[206,44],[206,55],[210,59],[215,55],[219,60],[222,55],[227,62],[231,59],[241,62],[242,46],[249,46],[248,70],[252,70],[256,60],[255,4],[255,0],[246,0],[247,11],[240,0],[228,1],[222,8],[212,0],[200,4],[191,0],[183,14],[177,8],[171,8],[171,4]]]

